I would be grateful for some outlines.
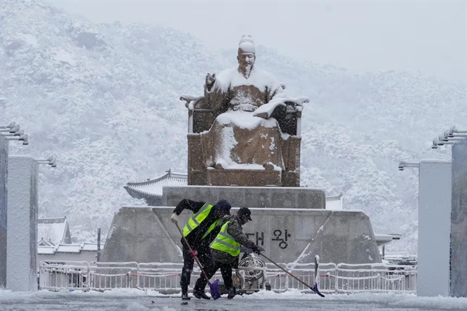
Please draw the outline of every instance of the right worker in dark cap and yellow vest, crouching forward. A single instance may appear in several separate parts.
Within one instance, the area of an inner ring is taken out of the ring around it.
[[[242,225],[251,220],[249,208],[242,207],[237,211],[237,215],[232,215],[224,220],[221,231],[211,244],[214,266],[205,269],[208,278],[221,269],[225,288],[228,289],[228,299],[236,295],[235,287],[232,284],[232,268],[238,268],[240,246],[251,248],[256,254],[260,254],[261,249],[249,240],[243,233]],[[198,278],[194,291],[205,291],[207,281],[205,278]]]

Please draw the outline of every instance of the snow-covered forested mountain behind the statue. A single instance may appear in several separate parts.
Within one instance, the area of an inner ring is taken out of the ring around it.
[[[57,155],[40,169],[40,215],[70,220],[76,241],[108,231],[114,211],[135,202],[127,181],[186,171],[182,93],[202,94],[206,73],[235,66],[174,29],[91,24],[38,1],[0,3],[0,123],[17,121],[29,146],[10,154]],[[232,47],[238,38],[232,38]],[[319,47],[317,47],[319,48]],[[466,127],[466,88],[420,73],[367,73],[297,63],[258,47],[257,65],[309,96],[302,125],[302,185],[343,192],[378,232],[416,252],[417,174],[399,160],[450,158],[431,151],[445,128]]]

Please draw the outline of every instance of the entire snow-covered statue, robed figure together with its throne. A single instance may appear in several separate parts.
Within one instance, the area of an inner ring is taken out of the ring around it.
[[[205,96],[181,96],[189,111],[188,184],[299,186],[300,117],[308,98],[287,98],[255,67],[253,38],[239,66],[207,74]]]

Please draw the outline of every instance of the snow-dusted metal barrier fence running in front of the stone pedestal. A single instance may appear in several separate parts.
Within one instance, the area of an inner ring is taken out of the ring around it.
[[[180,273],[183,264],[95,262],[87,261],[41,261],[39,266],[39,288],[60,290],[80,289],[105,291],[116,288],[156,290],[162,294],[181,291]],[[281,264],[306,284],[315,280],[314,264]],[[262,270],[265,280],[258,282],[260,289],[269,284],[272,291],[282,292],[299,289],[311,292],[301,282],[267,263],[265,268],[239,268],[249,273]],[[323,293],[411,292],[417,290],[417,270],[413,266],[387,266],[385,264],[320,264],[319,288]],[[200,270],[193,268],[192,278],[198,278]],[[221,279],[221,273],[212,281]]]

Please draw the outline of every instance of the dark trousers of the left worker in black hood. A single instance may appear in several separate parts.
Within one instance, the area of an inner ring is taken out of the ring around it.
[[[185,293],[188,291],[188,285],[190,285],[190,278],[191,278],[191,272],[193,271],[193,264],[195,262],[195,259],[190,254],[190,250],[188,250],[188,246],[184,243],[184,241],[181,242],[181,245],[183,245],[182,248],[182,253],[183,253],[183,261],[184,261],[184,266],[181,269],[181,276],[180,276],[180,285],[181,285],[181,292]],[[214,261],[212,260],[212,253],[211,253],[211,248],[209,248],[209,245],[195,245],[193,247],[193,250],[198,251],[198,259],[200,260],[201,265],[203,268],[208,268],[209,270],[212,270],[212,266],[214,266]]]

